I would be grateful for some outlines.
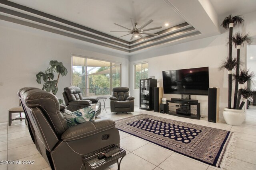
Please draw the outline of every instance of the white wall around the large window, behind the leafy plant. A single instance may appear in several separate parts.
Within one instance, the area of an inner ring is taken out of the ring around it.
[[[18,106],[17,91],[20,88],[42,88],[42,84],[36,82],[36,74],[44,71],[50,60],[62,62],[68,69],[68,74],[60,77],[58,98],[63,98],[63,89],[71,84],[72,54],[122,63],[122,86],[128,86],[129,59],[126,55],[6,21],[0,21],[0,37],[0,122],[8,120],[8,109]],[[107,100],[106,106],[109,105]]]

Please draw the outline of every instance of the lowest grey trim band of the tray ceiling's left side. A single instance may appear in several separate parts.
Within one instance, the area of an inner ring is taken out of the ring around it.
[[[106,43],[102,43],[102,42],[99,42],[99,41],[88,39],[86,37],[81,37],[79,35],[74,35],[74,34],[71,34],[71,33],[67,33],[67,32],[64,32],[64,31],[57,30],[57,29],[45,27],[45,26],[38,25],[38,24],[35,24],[35,23],[30,23],[30,22],[23,21],[23,20],[18,20],[16,18],[11,18],[11,17],[8,17],[8,16],[0,15],[0,20],[9,21],[9,22],[12,22],[12,23],[20,24],[20,25],[25,25],[25,26],[28,26],[28,27],[40,29],[40,30],[43,30],[43,31],[48,31],[48,32],[51,32],[51,33],[56,33],[56,34],[59,34],[59,35],[64,35],[66,37],[71,37],[71,38],[74,38],[74,39],[79,39],[79,40],[82,40],[82,41],[86,41],[88,43],[102,45],[104,47],[109,47],[109,48],[124,51],[124,52],[127,52],[127,53],[130,52],[128,49],[122,49],[122,48],[116,47],[114,45],[109,45],[109,44],[106,44]]]

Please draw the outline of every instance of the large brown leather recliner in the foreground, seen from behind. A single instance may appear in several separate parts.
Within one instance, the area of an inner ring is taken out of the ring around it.
[[[53,94],[22,88],[18,96],[36,148],[52,169],[84,170],[82,155],[111,144],[119,146],[119,132],[112,120],[94,120],[68,128]]]

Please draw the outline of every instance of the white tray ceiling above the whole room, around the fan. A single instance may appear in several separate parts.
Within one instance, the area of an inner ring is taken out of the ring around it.
[[[26,11],[17,6],[0,3],[0,8],[6,8],[22,14],[28,14],[30,19],[19,17],[15,12],[3,12],[0,9],[0,20],[6,20],[44,31],[49,31],[48,28],[58,30],[58,34],[82,41],[87,41],[98,47],[109,47],[114,50],[121,50],[128,53],[134,51],[157,48],[164,45],[173,45],[192,39],[199,39],[220,34],[220,21],[223,16],[242,15],[256,10],[256,0],[9,0],[18,5],[23,5],[58,18],[62,18],[79,25],[100,31],[105,34],[88,31],[74,25],[68,25],[61,21],[48,18],[45,15],[41,16],[33,12]],[[7,1],[8,2],[8,1]],[[7,18],[6,18],[7,16]],[[67,26],[71,29],[76,29],[84,33],[70,31],[70,29],[62,29],[54,27],[44,22],[31,20],[31,16],[58,23]],[[21,21],[12,20],[15,18]],[[162,26],[162,29],[147,31],[156,33],[162,30],[167,30],[161,35],[148,37],[146,40],[140,38],[133,39],[130,42],[131,35],[118,37],[127,33],[111,33],[110,31],[126,31],[126,29],[114,25],[118,23],[124,27],[132,29],[130,18],[138,23],[138,27],[149,20],[154,20],[146,28]],[[29,24],[35,23],[41,27]],[[164,24],[169,23],[168,27]],[[177,26],[184,24],[183,26]],[[45,27],[45,28],[42,28]],[[170,28],[170,29],[168,29]],[[180,31],[175,34],[176,31]],[[183,32],[182,32],[183,31]],[[56,32],[56,31],[50,31]],[[88,33],[92,36],[88,36]],[[72,34],[72,35],[70,35]],[[107,34],[107,35],[106,35]],[[75,37],[75,36],[79,37]],[[136,40],[136,41],[134,41]],[[105,44],[105,45],[104,45]]]

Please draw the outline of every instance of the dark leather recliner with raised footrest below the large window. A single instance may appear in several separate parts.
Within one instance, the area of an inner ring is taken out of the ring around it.
[[[94,97],[83,98],[79,87],[66,87],[62,94],[66,107],[70,111],[77,111],[84,107],[96,105],[95,117],[97,117],[101,112],[101,103],[99,102],[99,99]]]

